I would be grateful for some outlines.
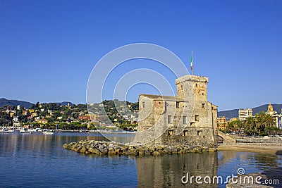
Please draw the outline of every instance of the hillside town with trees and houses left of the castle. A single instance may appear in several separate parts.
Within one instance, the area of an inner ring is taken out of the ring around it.
[[[115,101],[115,100],[114,100]],[[100,104],[91,104],[89,108],[94,113],[88,113],[86,104],[67,104],[62,106],[56,103],[32,104],[30,108],[24,106],[0,107],[0,127],[23,127],[25,129],[47,130],[121,130],[133,131],[137,127],[137,115],[120,115],[114,101],[103,101]],[[116,100],[117,101],[117,100]],[[126,102],[133,113],[137,112],[138,105]],[[102,110],[106,115],[102,115]],[[109,118],[109,119],[108,119]],[[115,126],[109,123],[109,120]]]

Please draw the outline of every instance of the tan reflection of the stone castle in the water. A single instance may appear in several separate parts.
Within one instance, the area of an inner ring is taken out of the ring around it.
[[[216,184],[182,184],[181,177],[213,177],[217,174],[217,153],[189,153],[137,157],[138,187],[218,187]]]

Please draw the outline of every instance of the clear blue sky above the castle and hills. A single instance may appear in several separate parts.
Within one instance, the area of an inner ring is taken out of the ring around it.
[[[147,42],[188,64],[194,49],[194,73],[209,77],[220,111],[281,104],[281,20],[282,1],[1,0],[0,97],[85,103],[102,56]],[[135,89],[128,100],[150,88]]]

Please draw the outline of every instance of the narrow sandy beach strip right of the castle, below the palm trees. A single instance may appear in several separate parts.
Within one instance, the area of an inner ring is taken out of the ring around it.
[[[219,144],[218,151],[246,151],[282,155],[282,144],[274,143],[237,143]]]

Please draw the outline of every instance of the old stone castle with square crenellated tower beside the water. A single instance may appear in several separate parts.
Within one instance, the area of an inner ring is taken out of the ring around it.
[[[135,142],[153,135],[154,144],[215,148],[217,106],[207,101],[208,82],[208,77],[184,75],[176,79],[176,96],[140,94]]]

